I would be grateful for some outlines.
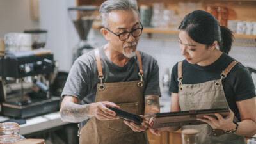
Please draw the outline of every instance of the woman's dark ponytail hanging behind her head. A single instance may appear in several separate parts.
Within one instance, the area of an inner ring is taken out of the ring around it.
[[[220,26],[220,33],[221,33],[221,42],[219,43],[220,51],[228,54],[234,39],[233,33],[232,31],[230,31],[230,29],[226,28],[225,26]]]

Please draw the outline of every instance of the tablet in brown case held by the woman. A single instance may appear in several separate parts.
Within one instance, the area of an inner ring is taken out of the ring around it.
[[[216,118],[216,116],[214,115],[215,113],[220,113],[220,115],[222,115],[223,118],[225,118],[229,115],[229,108],[177,111],[170,113],[155,113],[152,127],[159,128],[182,125],[206,124],[205,122],[196,120],[196,118],[204,118],[204,115],[209,115]]]

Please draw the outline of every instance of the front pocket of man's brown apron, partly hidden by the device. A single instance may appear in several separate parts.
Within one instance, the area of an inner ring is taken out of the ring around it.
[[[138,115],[138,111],[139,111],[138,102],[122,103],[117,105],[120,106],[120,109],[124,111]],[[124,133],[131,130],[131,128],[128,125],[124,124],[124,120],[122,119],[108,120],[108,128],[114,129],[115,131],[124,132]]]

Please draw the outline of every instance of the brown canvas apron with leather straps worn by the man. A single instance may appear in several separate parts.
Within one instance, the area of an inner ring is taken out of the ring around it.
[[[114,102],[120,109],[129,111],[136,115],[143,115],[143,70],[140,53],[137,51],[139,63],[140,81],[129,81],[120,83],[102,83],[104,76],[100,63],[99,49],[95,49],[98,74],[100,83],[97,84],[95,102]],[[79,131],[80,144],[128,144],[128,143],[148,143],[147,133],[134,132],[124,124],[124,120],[98,120],[90,118],[86,125]]]

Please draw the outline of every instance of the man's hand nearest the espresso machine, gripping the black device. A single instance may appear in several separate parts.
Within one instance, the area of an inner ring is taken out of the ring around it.
[[[113,102],[96,102],[93,103],[90,109],[90,115],[95,116],[98,120],[118,120],[115,111],[111,111],[108,106],[119,108]]]

